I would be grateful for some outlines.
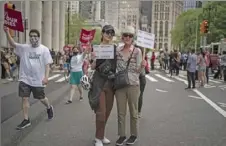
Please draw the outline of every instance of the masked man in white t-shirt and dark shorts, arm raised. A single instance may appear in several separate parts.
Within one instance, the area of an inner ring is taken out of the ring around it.
[[[45,96],[45,85],[48,83],[49,65],[53,63],[49,49],[40,44],[40,33],[36,29],[29,32],[30,44],[16,43],[4,27],[9,44],[20,57],[19,96],[23,98],[24,120],[17,126],[23,129],[31,125],[28,108],[29,97],[32,92],[35,99],[39,99],[47,108],[48,119],[53,118],[53,107]]]

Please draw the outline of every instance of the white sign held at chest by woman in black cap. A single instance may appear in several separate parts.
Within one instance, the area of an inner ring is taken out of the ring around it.
[[[114,59],[114,45],[94,45],[96,59]]]

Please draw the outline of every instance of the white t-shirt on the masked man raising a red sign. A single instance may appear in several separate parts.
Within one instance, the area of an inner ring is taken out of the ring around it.
[[[20,57],[19,81],[33,87],[44,87],[45,66],[53,63],[49,49],[44,45],[33,48],[30,44],[16,43],[15,53]]]

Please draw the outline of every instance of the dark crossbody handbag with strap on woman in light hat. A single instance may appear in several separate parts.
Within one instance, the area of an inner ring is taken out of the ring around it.
[[[130,55],[129,60],[127,61],[126,69],[119,71],[115,74],[115,79],[114,79],[114,89],[115,90],[122,89],[130,84],[129,76],[128,76],[128,68],[129,68],[130,60],[132,58],[134,50],[135,50],[135,47],[133,48],[133,51]]]

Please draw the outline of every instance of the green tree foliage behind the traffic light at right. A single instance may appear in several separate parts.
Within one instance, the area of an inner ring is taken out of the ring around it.
[[[216,8],[207,11],[209,7]],[[226,2],[210,2],[203,8],[191,9],[177,17],[176,24],[171,30],[172,45],[174,48],[188,49],[195,47],[196,32],[198,32],[197,47],[200,46],[200,23],[207,19],[210,23],[207,35],[208,43],[218,42],[226,37]],[[198,20],[198,21],[197,21]]]

